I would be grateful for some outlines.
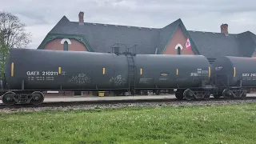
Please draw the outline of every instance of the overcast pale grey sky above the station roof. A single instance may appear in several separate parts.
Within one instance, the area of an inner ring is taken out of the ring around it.
[[[16,14],[32,33],[30,48],[36,49],[46,34],[66,15],[85,22],[161,28],[182,18],[187,30],[220,32],[222,23],[230,33],[250,30],[256,34],[256,0],[9,0],[0,10]]]

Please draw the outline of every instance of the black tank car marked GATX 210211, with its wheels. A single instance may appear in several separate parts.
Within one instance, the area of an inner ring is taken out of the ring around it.
[[[114,54],[11,49],[2,102],[44,101],[43,91],[174,90],[176,98],[210,98],[210,64],[202,55]]]

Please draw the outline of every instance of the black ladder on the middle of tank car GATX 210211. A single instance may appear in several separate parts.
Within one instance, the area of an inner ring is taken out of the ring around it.
[[[127,54],[127,61],[128,61],[128,80],[129,80],[129,95],[130,92],[135,94],[135,65],[134,65],[134,57],[132,54]]]

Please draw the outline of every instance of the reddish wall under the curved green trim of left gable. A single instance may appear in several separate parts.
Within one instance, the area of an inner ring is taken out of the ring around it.
[[[63,38],[55,38],[54,40],[46,43],[45,50],[64,50],[64,45],[61,43]],[[71,44],[68,45],[70,51],[87,51],[86,46],[76,39],[69,38]]]

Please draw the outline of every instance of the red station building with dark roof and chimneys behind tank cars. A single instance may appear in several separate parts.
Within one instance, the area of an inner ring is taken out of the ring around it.
[[[186,30],[181,18],[162,28],[90,23],[79,12],[76,22],[63,16],[38,49],[111,53],[114,46],[120,52],[134,48],[136,54],[202,54],[212,62],[226,55],[255,57],[256,35],[230,34],[228,24],[218,32]]]

